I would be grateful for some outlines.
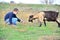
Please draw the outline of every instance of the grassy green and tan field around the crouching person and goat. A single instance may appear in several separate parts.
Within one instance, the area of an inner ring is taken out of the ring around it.
[[[5,25],[4,15],[14,8],[19,8],[17,16],[25,23],[17,23],[15,27]],[[0,4],[0,40],[60,40],[60,28],[55,22],[47,22],[38,27],[38,22],[29,23],[28,16],[37,11],[54,10],[60,12],[59,5],[37,4]],[[60,19],[60,16],[59,16]]]

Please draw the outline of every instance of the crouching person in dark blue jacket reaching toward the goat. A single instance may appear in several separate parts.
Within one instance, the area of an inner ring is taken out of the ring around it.
[[[16,16],[16,14],[18,14],[18,11],[19,10],[17,8],[14,8],[12,12],[8,12],[4,17],[4,21],[9,25],[16,25],[17,21],[22,21]]]

